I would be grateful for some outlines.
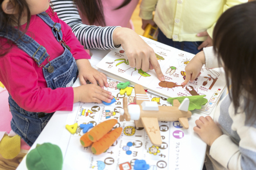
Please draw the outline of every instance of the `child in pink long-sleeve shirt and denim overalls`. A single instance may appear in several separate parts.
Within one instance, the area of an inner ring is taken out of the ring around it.
[[[29,146],[55,111],[113,98],[103,89],[106,76],[91,67],[90,56],[49,3],[0,0],[0,82],[10,94],[11,128]],[[92,84],[72,88],[77,75],[81,84]]]

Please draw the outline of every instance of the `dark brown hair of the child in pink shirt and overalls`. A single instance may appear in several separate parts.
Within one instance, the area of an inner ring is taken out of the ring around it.
[[[4,0],[0,0],[0,4],[2,5]],[[18,19],[14,17],[14,15],[10,15],[10,14],[5,14],[4,11],[2,10],[2,8],[0,7],[0,32],[4,32],[4,33],[8,33],[8,30],[11,31],[11,34],[14,34],[18,30],[20,30],[21,28],[21,18],[24,14],[24,12],[27,13],[27,25],[25,30],[23,30],[23,34],[25,34],[25,32],[28,30],[28,26],[30,23],[30,18],[31,18],[31,14],[28,8],[28,4],[26,2],[26,0],[11,0],[11,3],[13,3],[14,5],[14,9],[18,10]],[[17,29],[14,28],[13,25],[17,25]],[[9,29],[8,29],[9,28]],[[10,33],[10,32],[9,32]],[[19,38],[21,38],[21,36],[23,34],[19,34]],[[0,37],[0,39],[2,39]],[[0,41],[0,43],[3,43],[3,41]],[[7,40],[7,44],[9,44],[10,48],[11,48],[11,44],[13,44],[12,41]],[[0,57],[4,56],[5,54],[8,53],[8,50],[10,48],[3,48],[4,44],[0,44]]]

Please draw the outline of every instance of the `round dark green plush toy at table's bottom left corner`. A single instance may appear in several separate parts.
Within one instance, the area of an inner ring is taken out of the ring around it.
[[[26,158],[28,170],[61,170],[63,164],[60,147],[51,143],[37,144]]]

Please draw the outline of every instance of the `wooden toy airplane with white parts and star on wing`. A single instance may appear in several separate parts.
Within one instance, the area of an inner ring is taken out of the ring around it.
[[[134,120],[136,127],[144,127],[151,143],[161,146],[161,134],[158,121],[179,121],[185,128],[189,128],[188,118],[192,113],[188,110],[189,99],[186,98],[180,104],[173,101],[173,106],[158,106],[157,102],[151,102],[144,88],[135,85],[136,105],[127,105],[127,98],[123,98],[123,109],[120,109],[120,121]]]

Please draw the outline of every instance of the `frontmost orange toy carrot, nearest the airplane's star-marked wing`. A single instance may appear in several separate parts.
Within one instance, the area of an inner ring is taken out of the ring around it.
[[[94,153],[95,155],[103,153],[116,141],[116,139],[121,135],[122,131],[123,128],[118,127],[112,130],[111,132],[107,133],[97,142],[93,143],[91,146],[92,153]]]

